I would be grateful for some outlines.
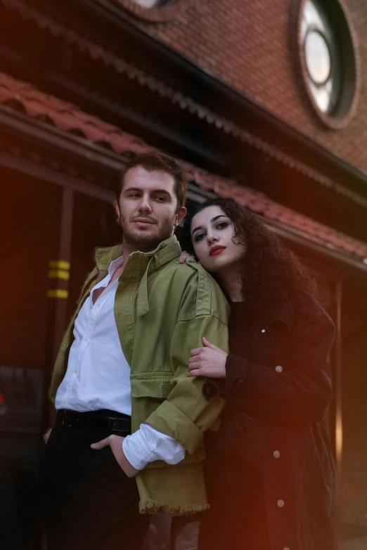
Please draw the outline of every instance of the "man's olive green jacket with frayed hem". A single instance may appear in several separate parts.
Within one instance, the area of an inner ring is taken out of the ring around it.
[[[184,515],[209,507],[202,439],[224,405],[219,395],[204,398],[205,379],[188,377],[188,359],[193,348],[202,346],[202,336],[228,351],[228,303],[197,263],[179,264],[180,253],[173,236],[152,252],[130,254],[115,295],[117,330],[131,368],[131,431],[147,423],[186,449],[179,464],[151,462],[136,476],[142,513]],[[96,268],[84,284],[56,358],[53,400],[67,367],[75,318],[91,289],[108,274],[110,262],[121,254],[121,246],[96,251]]]

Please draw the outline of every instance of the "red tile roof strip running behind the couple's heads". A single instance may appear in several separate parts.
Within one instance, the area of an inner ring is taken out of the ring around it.
[[[83,112],[77,105],[49,96],[34,86],[15,80],[3,73],[0,73],[0,104],[21,110],[30,117],[46,124],[52,124],[60,130],[76,133],[96,145],[108,146],[120,154],[138,154],[155,150],[140,138],[122,131],[117,126],[103,122],[92,114]],[[183,162],[183,164],[188,179],[194,181],[200,188],[210,190],[219,197],[233,197],[250,210],[262,214],[269,221],[281,222],[289,229],[294,228],[313,240],[317,240],[328,249],[358,256],[358,258],[366,260],[365,263],[367,263],[366,242],[356,240],[307,216],[298,214],[282,204],[274,202],[264,193],[240,185],[234,180],[221,178],[188,162]]]

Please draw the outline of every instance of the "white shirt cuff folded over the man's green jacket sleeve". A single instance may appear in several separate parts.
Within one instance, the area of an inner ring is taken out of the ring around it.
[[[149,462],[155,460],[178,464],[186,453],[176,440],[148,424],[141,424],[138,431],[124,438],[122,450],[136,470],[143,470]]]

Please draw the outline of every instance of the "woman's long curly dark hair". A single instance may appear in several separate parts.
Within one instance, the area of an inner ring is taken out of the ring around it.
[[[242,296],[247,315],[259,313],[283,292],[304,291],[318,299],[317,284],[299,258],[286,248],[271,229],[255,214],[233,199],[203,202],[187,216],[184,225],[184,248],[195,256],[191,239],[191,221],[207,207],[217,206],[230,218],[236,240],[245,246],[243,256]]]

